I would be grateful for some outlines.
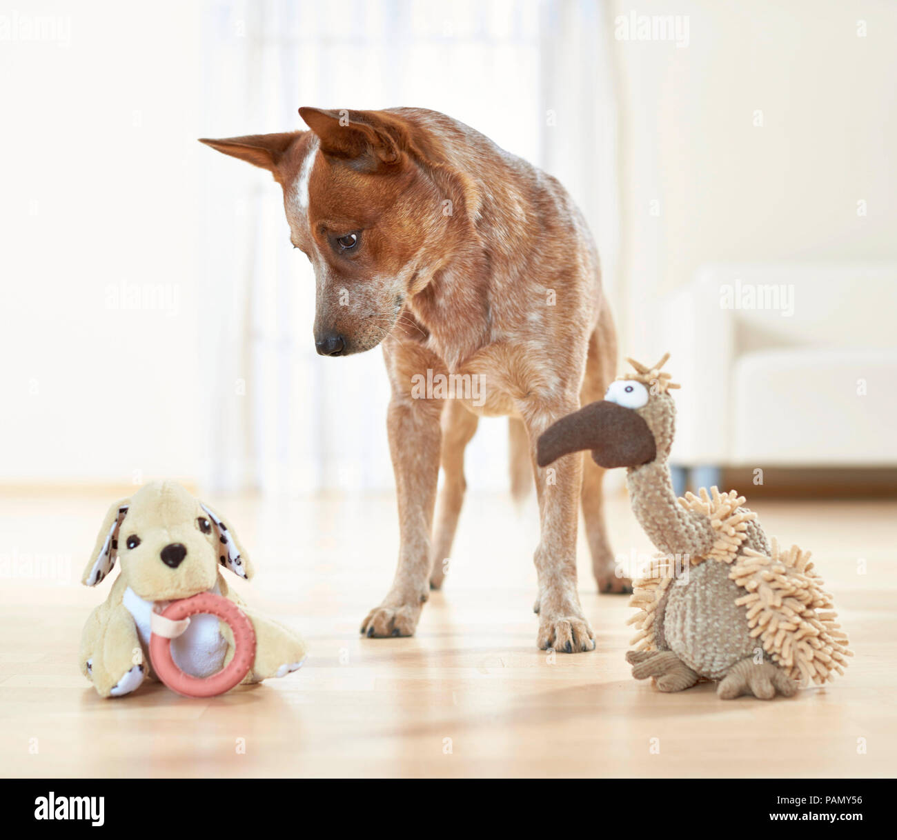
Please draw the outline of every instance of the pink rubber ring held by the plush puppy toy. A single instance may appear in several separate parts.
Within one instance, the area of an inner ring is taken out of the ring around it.
[[[172,621],[203,613],[222,619],[233,633],[234,652],[231,662],[211,677],[193,677],[184,673],[171,658],[171,639],[150,636],[150,659],[159,679],[172,691],[184,697],[214,697],[230,691],[242,680],[256,659],[256,631],[245,612],[221,595],[204,592],[171,602],[162,615]]]

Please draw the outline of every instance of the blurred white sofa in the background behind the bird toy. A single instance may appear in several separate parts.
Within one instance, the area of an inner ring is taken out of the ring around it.
[[[897,265],[709,265],[660,323],[683,384],[677,483],[727,466],[897,466]]]

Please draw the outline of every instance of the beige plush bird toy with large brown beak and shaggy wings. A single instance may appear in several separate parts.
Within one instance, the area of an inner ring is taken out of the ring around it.
[[[810,681],[832,679],[852,654],[809,552],[770,543],[735,490],[675,497],[668,392],[679,386],[660,371],[668,358],[653,368],[627,359],[635,373],[538,441],[539,466],[590,449],[600,466],[627,467],[632,511],[660,551],[634,584],[632,676],[654,678],[661,691],[720,680],[717,693],[726,699],[790,697]]]

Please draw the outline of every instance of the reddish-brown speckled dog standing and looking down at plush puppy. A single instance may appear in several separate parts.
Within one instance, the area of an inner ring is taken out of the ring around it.
[[[442,583],[477,416],[509,415],[515,489],[526,489],[527,460],[536,473],[538,645],[592,650],[576,587],[580,486],[599,590],[630,591],[605,538],[603,471],[589,461],[583,476],[582,455],[535,463],[544,429],[601,399],[614,377],[614,325],[586,222],[557,180],[435,111],[300,115],[310,131],[202,142],[283,187],[292,244],[315,269],[318,352],[383,344],[401,548],[361,632],[414,633]]]

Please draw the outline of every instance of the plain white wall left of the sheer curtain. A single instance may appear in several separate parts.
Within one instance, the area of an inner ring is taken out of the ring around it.
[[[196,472],[197,22],[0,2],[0,481]]]

